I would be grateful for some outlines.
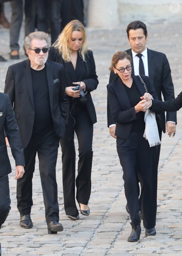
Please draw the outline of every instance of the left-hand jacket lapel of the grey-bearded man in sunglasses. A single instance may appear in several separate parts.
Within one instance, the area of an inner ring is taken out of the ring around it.
[[[30,100],[32,103],[32,106],[34,108],[34,95],[33,95],[33,87],[32,87],[32,74],[31,74],[31,67],[30,67],[30,62],[29,59],[25,60],[24,62],[24,75],[25,75],[25,80],[26,80],[26,85],[28,88]]]

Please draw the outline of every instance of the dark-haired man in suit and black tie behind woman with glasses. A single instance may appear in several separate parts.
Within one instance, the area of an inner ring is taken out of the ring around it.
[[[165,54],[150,50],[146,47],[148,39],[147,27],[142,21],[131,22],[126,29],[128,41],[131,48],[126,50],[131,56],[133,75],[145,75],[149,77],[150,83],[154,86],[158,99],[174,100],[174,86],[171,77],[169,62]],[[113,71],[110,72],[109,82],[118,77]],[[142,95],[141,95],[142,96]],[[107,120],[110,134],[115,137],[115,122],[111,116],[110,106],[107,105]],[[158,131],[161,140],[163,133],[168,132],[169,137],[176,132],[176,111],[165,113],[160,112],[158,120]],[[173,137],[173,136],[172,136]],[[158,161],[160,155],[160,145],[158,145]],[[126,205],[126,210],[127,205]]]

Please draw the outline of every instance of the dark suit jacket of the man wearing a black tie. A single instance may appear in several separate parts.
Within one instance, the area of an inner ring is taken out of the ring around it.
[[[131,49],[126,50],[127,54],[131,56],[132,59],[132,52]],[[158,99],[162,100],[162,94],[164,100],[174,100],[174,86],[171,77],[171,69],[169,66],[168,59],[165,54],[150,50],[147,48],[147,57],[148,57],[148,77],[150,83],[154,86]],[[131,74],[134,75],[134,67],[133,62],[131,63],[132,70]],[[110,82],[113,81],[118,77],[114,71],[110,72]],[[108,108],[108,126],[113,124],[114,120],[110,115],[110,109]],[[166,122],[173,121],[177,123],[176,112],[167,112],[166,113],[166,120],[165,120],[165,113],[160,112],[160,121],[159,126],[166,132]]]

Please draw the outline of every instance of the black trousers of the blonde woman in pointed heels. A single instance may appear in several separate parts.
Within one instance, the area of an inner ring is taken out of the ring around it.
[[[93,124],[84,106],[75,105],[73,107],[64,136],[60,140],[64,208],[67,215],[78,215],[75,202],[76,152],[74,133],[77,135],[79,152],[76,198],[79,203],[88,204],[91,193]]]

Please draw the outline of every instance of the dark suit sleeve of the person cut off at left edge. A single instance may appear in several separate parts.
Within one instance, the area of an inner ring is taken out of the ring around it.
[[[6,121],[4,124],[4,129],[8,137],[8,142],[11,147],[11,152],[16,166],[24,166],[24,150],[20,139],[19,128],[14,117],[14,111],[9,97],[7,100]]]

